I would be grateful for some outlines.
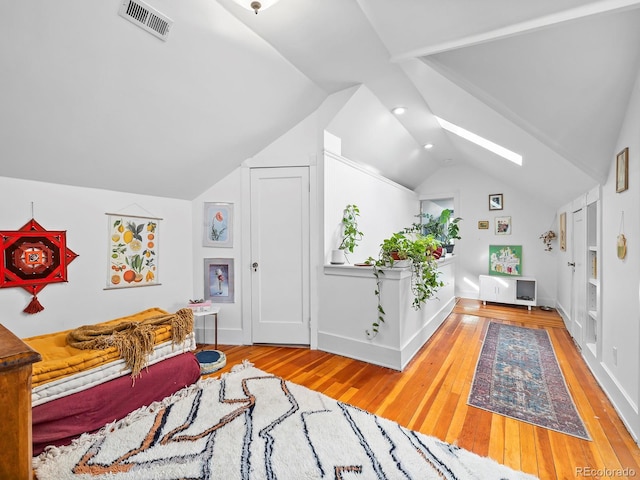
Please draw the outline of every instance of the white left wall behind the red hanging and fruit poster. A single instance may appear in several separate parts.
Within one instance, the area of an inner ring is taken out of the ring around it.
[[[111,320],[150,307],[170,312],[192,295],[191,202],[108,190],[0,177],[0,228],[18,230],[31,219],[47,230],[66,230],[67,246],[79,256],[67,267],[67,283],[46,286],[44,310],[25,314],[31,300],[22,288],[0,289],[0,323],[18,337],[67,330]],[[158,274],[161,285],[104,290],[109,257],[107,216],[160,217]]]

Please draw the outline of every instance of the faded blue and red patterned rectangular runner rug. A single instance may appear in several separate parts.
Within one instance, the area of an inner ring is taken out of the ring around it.
[[[491,322],[468,404],[591,440],[543,329]]]

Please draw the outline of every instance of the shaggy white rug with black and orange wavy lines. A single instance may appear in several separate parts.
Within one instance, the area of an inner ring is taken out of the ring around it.
[[[250,364],[34,459],[39,480],[527,479]]]

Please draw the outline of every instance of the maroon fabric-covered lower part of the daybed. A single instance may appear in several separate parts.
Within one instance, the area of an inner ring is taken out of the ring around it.
[[[135,384],[129,375],[32,409],[33,455],[47,445],[68,445],[84,432],[126,417],[130,412],[174,394],[200,378],[192,352],[168,358],[141,372]]]

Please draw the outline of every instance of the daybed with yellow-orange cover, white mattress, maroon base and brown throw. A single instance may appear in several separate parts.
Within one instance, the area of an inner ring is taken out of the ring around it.
[[[33,454],[70,443],[200,377],[193,313],[150,308],[23,341],[33,364]]]

